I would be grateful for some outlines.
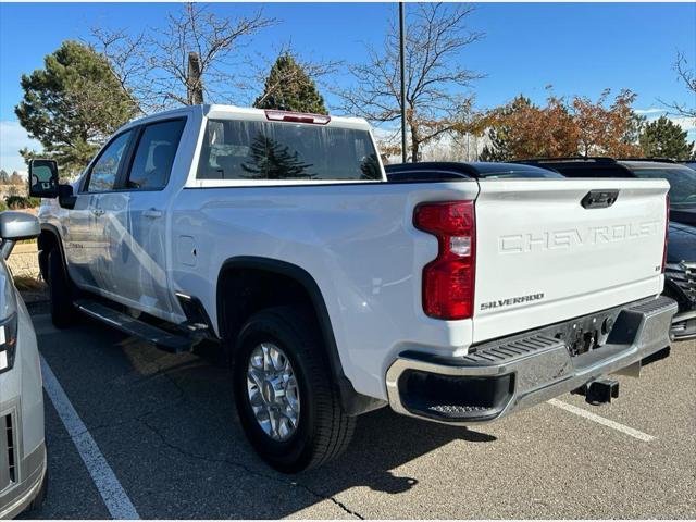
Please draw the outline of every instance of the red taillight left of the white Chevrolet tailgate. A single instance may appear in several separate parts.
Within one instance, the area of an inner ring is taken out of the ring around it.
[[[474,310],[476,227],[473,201],[421,203],[417,228],[437,237],[437,258],[423,269],[423,311],[431,318],[468,319]]]

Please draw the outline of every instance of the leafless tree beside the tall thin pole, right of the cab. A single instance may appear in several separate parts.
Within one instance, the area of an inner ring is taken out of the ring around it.
[[[406,117],[411,158],[422,145],[450,130],[464,130],[471,96],[464,90],[481,78],[461,64],[467,47],[483,37],[467,26],[473,8],[442,3],[409,4],[406,35]],[[400,116],[399,32],[395,21],[384,48],[368,47],[369,60],[349,66],[356,80],[339,90],[341,109],[374,123]]]

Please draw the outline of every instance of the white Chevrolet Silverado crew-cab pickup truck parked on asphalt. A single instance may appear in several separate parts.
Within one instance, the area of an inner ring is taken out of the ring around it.
[[[607,375],[669,351],[668,184],[509,169],[390,183],[357,119],[199,105],[132,122],[73,185],[32,164],[32,194],[54,198],[53,322],[220,343],[249,439],[286,472],[337,456],[385,405],[468,425],[569,391],[609,401]]]

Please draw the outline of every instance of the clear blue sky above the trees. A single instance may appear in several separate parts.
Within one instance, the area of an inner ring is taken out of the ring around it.
[[[395,3],[215,3],[221,15],[262,8],[279,23],[264,29],[247,51],[272,54],[291,41],[313,59],[360,62],[363,42],[380,44]],[[23,170],[16,150],[30,145],[16,123],[20,76],[42,64],[64,39],[87,38],[89,27],[157,26],[181,7],[171,3],[0,3],[0,167]],[[407,5],[407,10],[408,10]],[[696,3],[478,3],[471,26],[486,37],[462,53],[476,82],[476,105],[489,108],[524,94],[543,101],[558,95],[596,98],[607,87],[637,92],[635,107],[658,115],[658,98],[696,104],[678,84],[676,51],[696,64]],[[346,82],[339,75],[337,82]],[[326,96],[328,105],[335,100]],[[693,127],[693,125],[692,125]],[[691,133],[692,139],[695,137]]]

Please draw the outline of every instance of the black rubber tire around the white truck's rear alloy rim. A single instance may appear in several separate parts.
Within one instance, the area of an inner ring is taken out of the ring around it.
[[[326,352],[310,318],[290,307],[261,311],[243,326],[236,345],[234,384],[241,425],[261,458],[284,473],[297,473],[336,458],[348,447],[356,426],[356,418],[346,415],[340,407]],[[300,413],[296,431],[287,440],[266,435],[251,410],[247,368],[260,343],[278,346],[297,378]]]

